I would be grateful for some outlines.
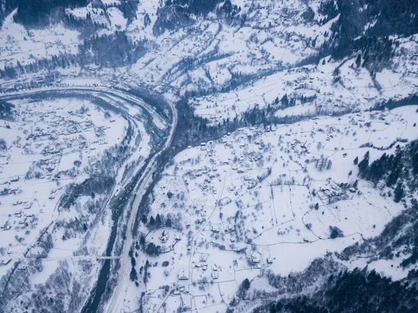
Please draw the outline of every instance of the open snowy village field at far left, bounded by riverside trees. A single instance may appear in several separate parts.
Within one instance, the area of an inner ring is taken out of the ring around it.
[[[8,229],[3,247],[15,259],[38,239],[40,229],[57,219],[65,186],[83,181],[88,177],[84,168],[121,142],[127,121],[111,112],[106,118],[107,111],[76,98],[11,102],[17,119],[0,121],[8,145],[0,179],[15,192],[1,199],[1,225]],[[70,255],[77,249],[65,245]],[[10,266],[2,267],[2,273]]]

